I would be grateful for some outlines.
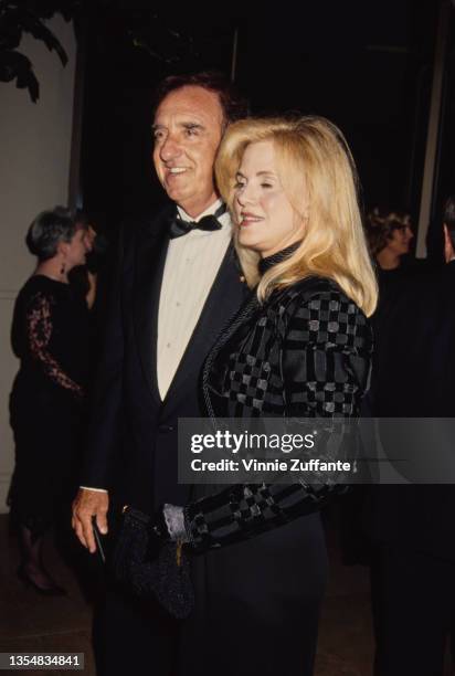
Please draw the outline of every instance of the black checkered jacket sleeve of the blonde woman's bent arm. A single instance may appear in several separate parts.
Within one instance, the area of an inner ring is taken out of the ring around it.
[[[288,308],[282,344],[287,416],[350,418],[358,411],[370,369],[369,325],[339,293],[298,298]],[[321,508],[345,486],[242,484],[184,509],[192,548],[204,551],[254,537]]]

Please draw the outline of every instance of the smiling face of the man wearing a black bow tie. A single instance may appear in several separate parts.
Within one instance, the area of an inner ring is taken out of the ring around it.
[[[213,163],[222,125],[218,95],[199,86],[168,94],[155,116],[155,169],[168,197],[192,218],[216,199]]]

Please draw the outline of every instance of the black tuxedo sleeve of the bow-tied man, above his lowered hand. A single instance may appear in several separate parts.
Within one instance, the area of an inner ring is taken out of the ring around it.
[[[120,230],[117,251],[109,262],[104,339],[91,397],[89,424],[81,474],[81,485],[88,488],[109,488],[112,469],[120,445],[125,349],[121,313],[124,246]]]

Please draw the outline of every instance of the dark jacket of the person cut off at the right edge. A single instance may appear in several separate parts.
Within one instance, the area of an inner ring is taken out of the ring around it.
[[[377,321],[374,415],[455,418],[454,293],[452,262],[408,281],[390,297],[387,314]],[[448,453],[453,446],[444,434],[433,443],[448,443]],[[380,485],[369,492],[364,526],[374,543],[454,562],[454,515],[453,484]]]

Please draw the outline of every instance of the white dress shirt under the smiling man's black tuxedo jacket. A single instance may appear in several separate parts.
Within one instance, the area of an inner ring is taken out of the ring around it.
[[[195,219],[180,207],[177,209],[183,221],[200,221],[215,213],[220,205],[218,200]],[[229,213],[223,213],[219,221],[221,230],[192,230],[169,242],[158,315],[157,369],[161,399],[169,390],[231,241]]]

